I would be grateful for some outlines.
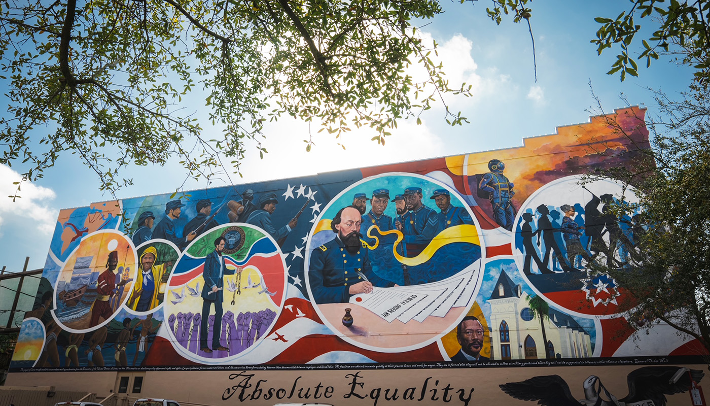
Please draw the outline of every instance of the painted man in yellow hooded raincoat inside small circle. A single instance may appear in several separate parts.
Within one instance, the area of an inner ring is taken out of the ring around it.
[[[135,311],[148,311],[155,309],[160,304],[158,293],[163,275],[168,272],[168,267],[172,265],[166,262],[154,265],[158,252],[155,247],[148,247],[141,254],[141,272],[138,272],[136,282],[133,284],[133,292],[129,298],[129,306]]]

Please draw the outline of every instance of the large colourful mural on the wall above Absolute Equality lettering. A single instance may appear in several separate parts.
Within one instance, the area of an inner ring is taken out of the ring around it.
[[[633,292],[588,266],[623,267],[643,233],[609,216],[633,188],[581,177],[635,165],[643,114],[616,112],[634,143],[592,117],[518,148],[62,210],[12,368],[692,355],[665,324],[634,341]]]

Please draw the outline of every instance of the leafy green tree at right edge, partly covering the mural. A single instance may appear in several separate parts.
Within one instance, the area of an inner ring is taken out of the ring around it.
[[[614,247],[620,260],[592,267],[633,292],[620,303],[631,327],[643,331],[664,321],[710,352],[709,92],[693,85],[680,100],[655,95],[665,119],[648,123],[654,144],[645,163],[596,173],[636,186],[639,203],[613,210],[631,236]],[[630,139],[617,122],[608,124]]]

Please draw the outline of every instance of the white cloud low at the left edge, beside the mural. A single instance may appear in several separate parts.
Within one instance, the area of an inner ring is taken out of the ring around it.
[[[21,190],[17,192],[18,196],[22,197],[13,202],[8,196],[15,195],[17,185],[13,182],[21,181],[22,176],[9,166],[0,165],[0,179],[0,225],[8,218],[28,218],[34,220],[40,233],[50,235],[54,231],[59,213],[59,210],[47,204],[47,201],[56,197],[54,191],[34,183],[23,182]]]

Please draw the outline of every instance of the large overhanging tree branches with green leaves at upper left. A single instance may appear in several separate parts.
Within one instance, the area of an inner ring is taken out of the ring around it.
[[[21,161],[34,181],[77,154],[115,191],[129,165],[177,155],[200,177],[220,156],[238,166],[249,144],[263,155],[263,125],[280,117],[335,137],[371,128],[384,144],[399,119],[469,90],[449,85],[414,26],[441,12],[436,0],[2,1],[0,164]],[[447,108],[447,122],[466,118]]]

